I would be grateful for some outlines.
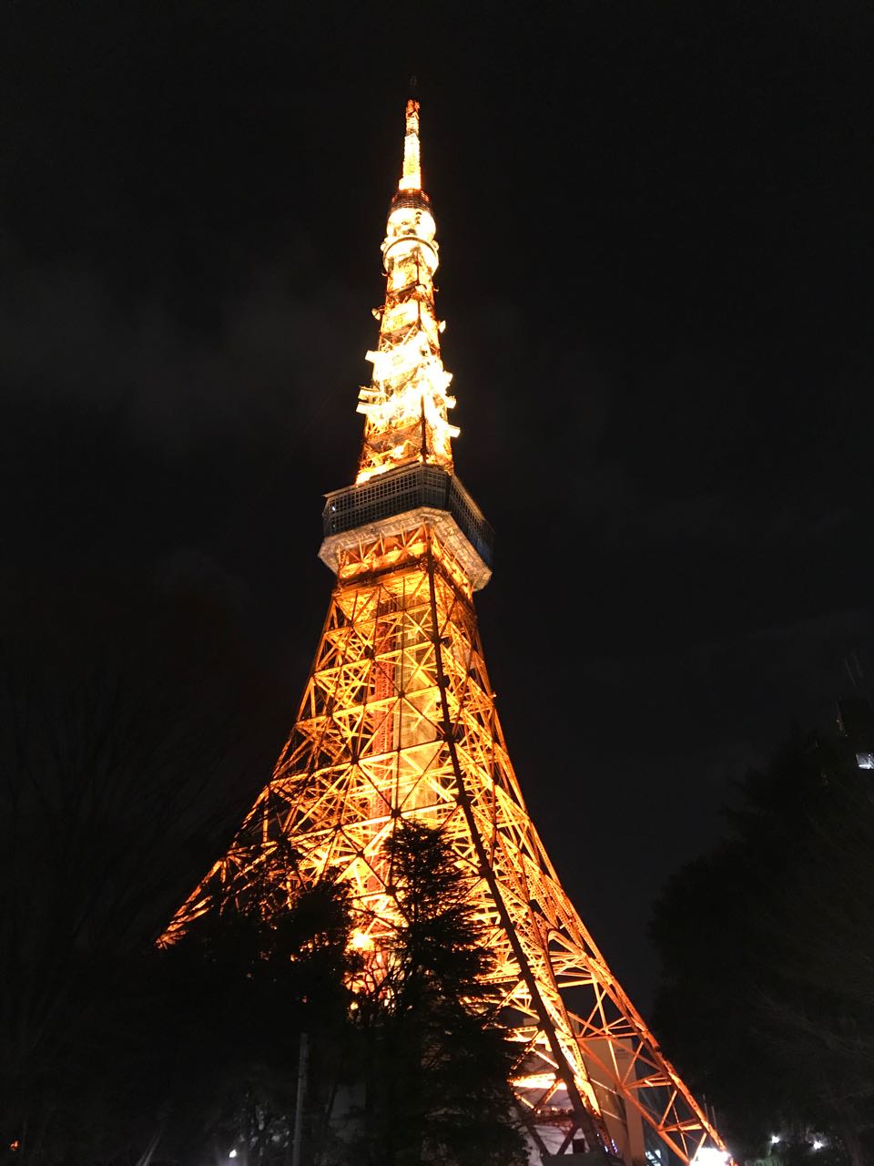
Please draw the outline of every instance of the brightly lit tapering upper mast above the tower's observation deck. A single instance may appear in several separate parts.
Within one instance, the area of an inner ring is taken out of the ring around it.
[[[380,321],[379,344],[367,353],[373,364],[371,384],[359,393],[358,412],[365,416],[357,484],[413,463],[437,465],[452,472],[451,426],[447,410],[452,374],[440,359],[434,303],[437,271],[437,226],[431,199],[422,189],[420,104],[410,97],[404,112],[403,164],[388,210],[382,266],[386,298],[374,311]]]

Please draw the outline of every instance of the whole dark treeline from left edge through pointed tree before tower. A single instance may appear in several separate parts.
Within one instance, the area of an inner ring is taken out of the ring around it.
[[[479,988],[488,955],[438,835],[392,843],[399,929],[379,992],[355,979],[345,892],[277,893],[288,879],[267,869],[245,902],[219,891],[156,943],[289,712],[203,580],[112,595],[7,586],[0,1157],[521,1163],[510,1052]],[[289,856],[274,862],[287,874]]]

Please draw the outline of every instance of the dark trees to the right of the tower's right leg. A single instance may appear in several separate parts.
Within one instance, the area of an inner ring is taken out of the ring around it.
[[[656,1031],[739,1159],[874,1154],[874,785],[855,750],[797,731],[654,913]]]

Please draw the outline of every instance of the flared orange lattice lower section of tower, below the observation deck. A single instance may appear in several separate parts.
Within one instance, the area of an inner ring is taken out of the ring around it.
[[[487,577],[488,563],[451,510],[415,506],[339,531],[332,497],[322,555],[337,584],[294,730],[168,939],[207,909],[216,878],[224,897],[242,899],[281,849],[296,856],[289,895],[329,877],[350,885],[357,946],[378,967],[396,920],[383,847],[415,820],[443,833],[471,880],[494,954],[488,990],[517,1047],[514,1094],[543,1159],[598,1150],[668,1166],[721,1146],[526,809],[473,607],[472,578]],[[487,540],[481,549],[491,554]]]

